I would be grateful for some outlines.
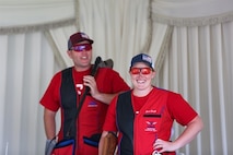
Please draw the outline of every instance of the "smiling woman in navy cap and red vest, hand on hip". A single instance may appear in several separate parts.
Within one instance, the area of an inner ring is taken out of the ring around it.
[[[200,117],[179,94],[152,85],[155,72],[150,56],[135,56],[129,73],[133,88],[117,95],[110,103],[100,142],[100,155],[104,152],[107,133],[118,131],[120,155],[174,155],[202,129]],[[174,120],[186,129],[171,142]]]

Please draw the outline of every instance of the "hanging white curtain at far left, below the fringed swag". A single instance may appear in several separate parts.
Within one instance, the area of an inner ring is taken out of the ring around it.
[[[42,33],[1,36],[0,40],[0,154],[43,154],[38,99],[56,69],[51,49]]]

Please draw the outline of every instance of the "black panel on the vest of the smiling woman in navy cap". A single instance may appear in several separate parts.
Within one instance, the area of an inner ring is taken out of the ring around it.
[[[131,91],[118,96],[116,115],[118,130],[123,133],[119,152],[121,155],[133,155],[135,112],[131,104]]]

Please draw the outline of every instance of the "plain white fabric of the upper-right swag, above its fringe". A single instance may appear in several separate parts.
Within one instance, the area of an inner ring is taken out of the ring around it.
[[[232,12],[232,0],[154,0],[154,13],[170,17],[200,17]]]

